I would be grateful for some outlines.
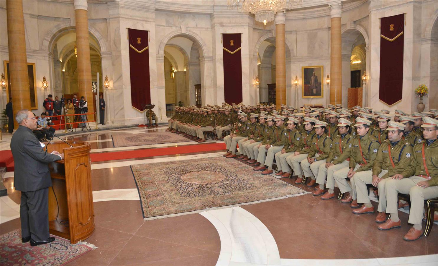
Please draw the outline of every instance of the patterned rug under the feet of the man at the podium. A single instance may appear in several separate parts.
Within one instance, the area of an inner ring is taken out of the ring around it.
[[[58,237],[52,243],[31,247],[29,242],[21,243],[18,229],[0,236],[0,265],[64,265],[95,248],[86,242],[72,245]]]

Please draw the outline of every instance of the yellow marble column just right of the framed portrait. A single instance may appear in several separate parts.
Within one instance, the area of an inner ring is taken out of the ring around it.
[[[330,5],[330,103],[342,104],[342,5]]]

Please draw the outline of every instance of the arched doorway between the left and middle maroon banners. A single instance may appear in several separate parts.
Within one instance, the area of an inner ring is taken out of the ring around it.
[[[196,40],[175,36],[164,47],[166,116],[175,106],[201,105],[200,49]]]

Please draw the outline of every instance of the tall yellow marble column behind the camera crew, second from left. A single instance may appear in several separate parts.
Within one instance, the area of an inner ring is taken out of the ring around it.
[[[76,18],[76,47],[78,50],[78,97],[85,97],[88,101],[88,113],[94,112],[92,102],[93,90],[91,79],[90,43],[88,37],[87,0],[74,0],[74,13]],[[88,120],[94,120],[93,115],[88,115]]]

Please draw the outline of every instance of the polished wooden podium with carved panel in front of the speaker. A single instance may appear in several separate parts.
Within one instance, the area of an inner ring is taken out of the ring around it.
[[[91,145],[86,141],[58,141],[47,151],[64,152],[64,160],[49,164],[49,231],[69,239],[71,244],[85,240],[95,230],[91,187]]]

